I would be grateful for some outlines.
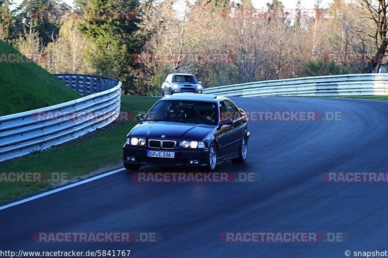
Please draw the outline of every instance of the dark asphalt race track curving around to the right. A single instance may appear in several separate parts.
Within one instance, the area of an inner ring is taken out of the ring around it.
[[[130,249],[131,257],[345,257],[388,247],[388,183],[327,183],[327,171],[388,171],[388,102],[233,98],[246,111],[336,111],[342,121],[250,121],[256,183],[136,183],[122,172],[0,211],[0,250]],[[49,166],[49,162],[48,162]],[[181,168],[171,169],[182,171]],[[166,171],[142,167],[141,171]],[[185,170],[187,171],[187,170]],[[34,232],[158,232],[158,243],[35,243]],[[344,232],[337,243],[224,243],[222,232]]]

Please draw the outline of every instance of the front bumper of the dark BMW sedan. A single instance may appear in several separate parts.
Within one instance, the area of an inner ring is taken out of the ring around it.
[[[174,158],[147,157],[147,151],[175,152]],[[127,160],[135,157],[135,161]],[[143,147],[123,146],[123,163],[141,166],[187,166],[203,167],[207,165],[209,148],[205,149],[152,149]],[[190,164],[189,160],[198,160],[198,164]]]

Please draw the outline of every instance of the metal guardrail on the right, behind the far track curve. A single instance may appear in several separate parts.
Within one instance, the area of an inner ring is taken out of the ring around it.
[[[317,76],[212,87],[203,93],[222,96],[388,95],[388,74]]]

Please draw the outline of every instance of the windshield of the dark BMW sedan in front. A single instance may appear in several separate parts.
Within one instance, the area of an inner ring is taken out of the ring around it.
[[[203,101],[161,100],[149,110],[145,121],[176,121],[217,124],[215,104]]]

